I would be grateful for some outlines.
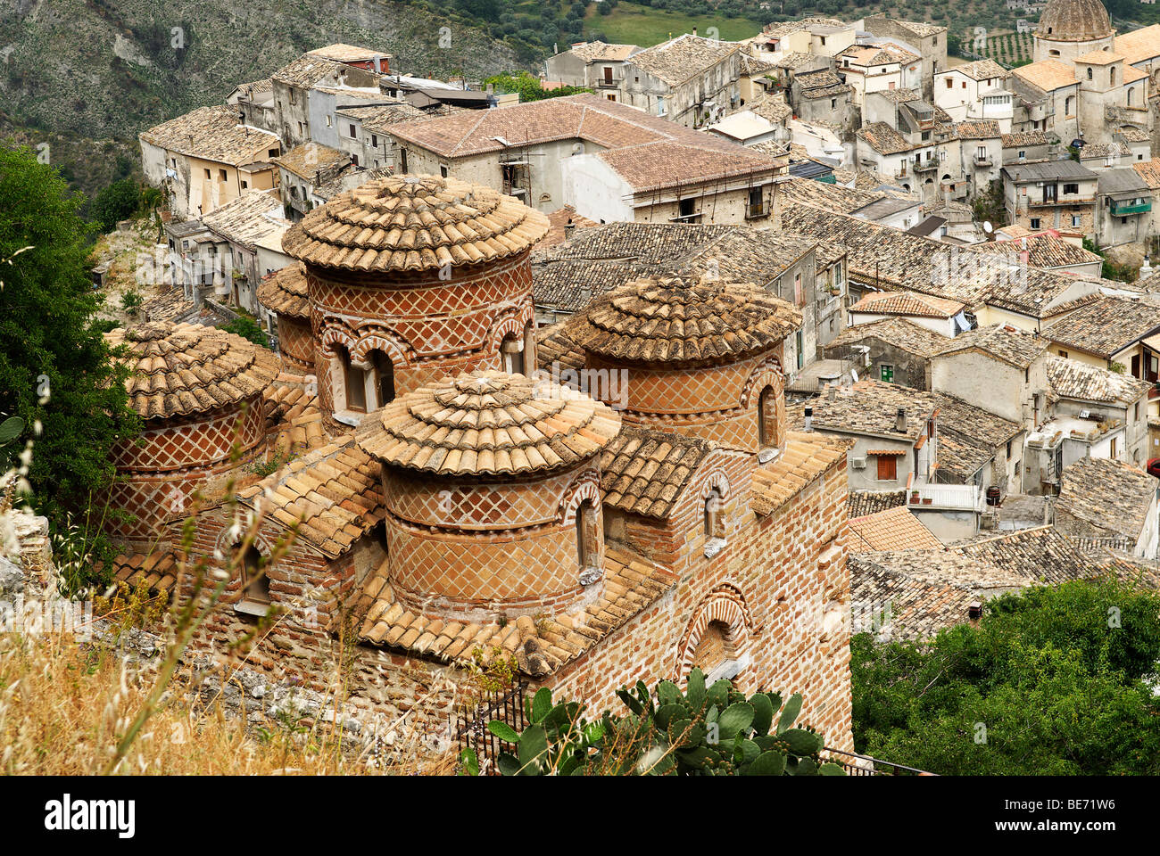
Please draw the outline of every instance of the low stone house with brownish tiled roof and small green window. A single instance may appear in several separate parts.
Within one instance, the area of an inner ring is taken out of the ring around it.
[[[950,339],[907,318],[891,317],[853,325],[826,346],[831,360],[850,360],[861,377],[930,390],[930,357]]]

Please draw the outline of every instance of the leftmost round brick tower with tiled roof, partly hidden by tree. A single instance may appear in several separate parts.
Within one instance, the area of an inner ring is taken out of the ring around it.
[[[109,534],[147,551],[161,522],[189,509],[194,493],[209,496],[237,467],[264,450],[262,390],[278,371],[275,356],[241,336],[195,324],[157,322],[106,334],[126,346],[125,389],[145,427],[113,450],[117,479],[107,517]],[[234,442],[240,459],[231,460]]]

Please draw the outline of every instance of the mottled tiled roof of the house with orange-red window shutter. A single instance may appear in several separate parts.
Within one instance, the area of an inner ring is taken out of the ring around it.
[[[927,420],[938,408],[930,392],[880,380],[858,380],[831,390],[832,394],[819,396],[809,402],[813,407],[815,430],[872,434],[913,443],[926,431]],[[907,414],[905,431],[894,427],[899,408]]]

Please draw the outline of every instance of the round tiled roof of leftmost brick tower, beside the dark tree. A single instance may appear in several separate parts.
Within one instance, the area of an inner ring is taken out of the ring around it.
[[[278,373],[270,351],[200,324],[160,321],[104,334],[129,348],[130,406],[145,419],[184,416],[238,404]]]

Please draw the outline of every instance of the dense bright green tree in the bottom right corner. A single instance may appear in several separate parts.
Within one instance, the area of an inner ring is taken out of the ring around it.
[[[1007,595],[930,643],[850,646],[860,752],[950,775],[1157,775],[1160,596],[1116,580]]]

